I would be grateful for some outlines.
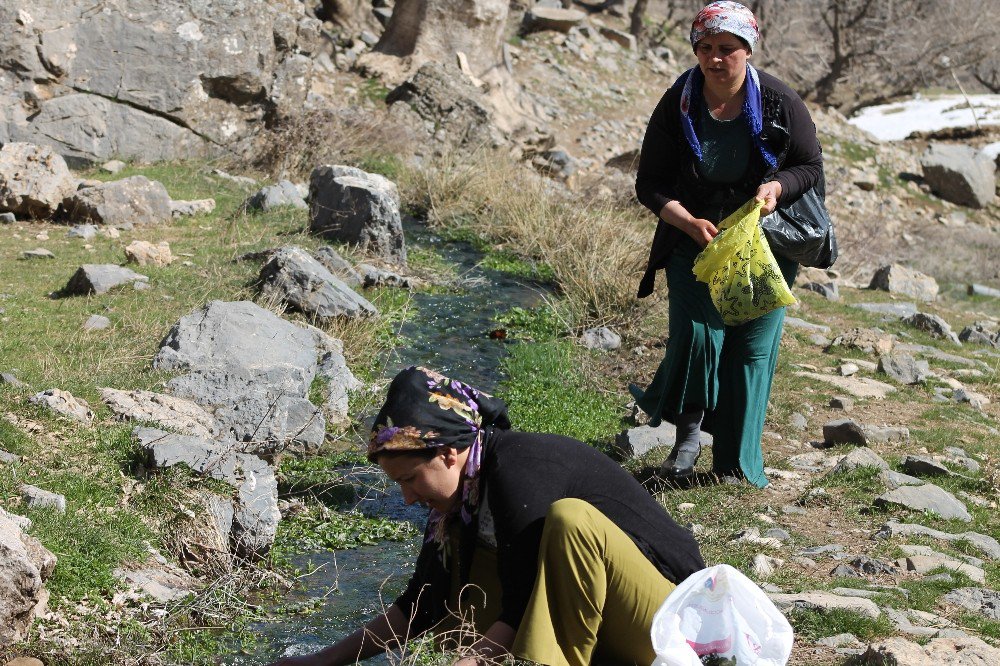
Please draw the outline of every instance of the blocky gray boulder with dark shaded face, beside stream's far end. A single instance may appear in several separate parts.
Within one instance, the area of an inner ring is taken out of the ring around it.
[[[321,166],[310,176],[309,201],[310,233],[406,264],[399,207],[385,188],[371,179],[334,176],[330,166]]]

